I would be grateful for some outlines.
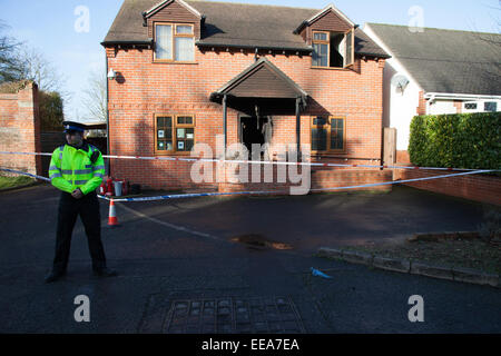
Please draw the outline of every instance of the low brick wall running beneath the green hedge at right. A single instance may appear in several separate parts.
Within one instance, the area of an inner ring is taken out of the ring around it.
[[[452,174],[436,170],[395,169],[393,179],[403,180]],[[501,205],[501,177],[471,175],[407,182],[405,185],[470,200]]]

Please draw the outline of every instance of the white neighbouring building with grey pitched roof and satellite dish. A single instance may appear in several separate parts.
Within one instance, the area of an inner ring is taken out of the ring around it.
[[[392,58],[383,72],[383,122],[405,162],[416,115],[501,111],[501,34],[366,23]]]

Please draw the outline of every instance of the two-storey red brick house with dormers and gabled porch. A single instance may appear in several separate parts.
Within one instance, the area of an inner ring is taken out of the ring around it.
[[[110,155],[189,157],[199,142],[216,152],[222,135],[226,146],[268,144],[262,159],[302,144],[312,161],[381,162],[389,55],[334,6],[125,0],[101,44],[116,73]],[[190,162],[110,166],[112,177],[154,188],[228,189],[193,182]],[[335,175],[314,170],[312,185],[391,180],[380,170]]]

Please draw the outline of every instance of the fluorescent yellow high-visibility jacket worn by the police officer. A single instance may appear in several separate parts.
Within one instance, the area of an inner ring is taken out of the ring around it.
[[[92,164],[90,157],[94,151],[99,152],[98,159]],[[72,192],[80,188],[84,195],[94,191],[105,177],[105,160],[101,152],[84,142],[82,147],[75,148],[65,145],[55,149],[49,167],[49,178],[52,186]]]

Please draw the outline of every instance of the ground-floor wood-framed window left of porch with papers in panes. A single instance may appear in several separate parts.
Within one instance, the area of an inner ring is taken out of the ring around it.
[[[155,151],[157,154],[189,152],[194,142],[194,116],[158,115],[155,117]]]

